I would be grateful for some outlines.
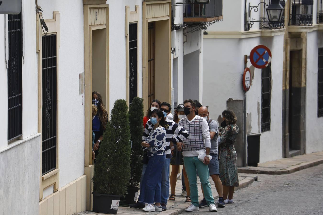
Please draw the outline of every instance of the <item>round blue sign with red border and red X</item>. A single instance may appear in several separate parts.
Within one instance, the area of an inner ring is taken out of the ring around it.
[[[265,45],[257,45],[249,55],[251,64],[258,69],[266,68],[271,62],[270,49]]]

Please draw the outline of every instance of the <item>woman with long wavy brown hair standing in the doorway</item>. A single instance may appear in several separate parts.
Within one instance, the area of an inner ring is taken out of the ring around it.
[[[103,140],[103,132],[108,123],[108,112],[104,108],[101,94],[97,91],[92,93],[92,104],[98,108],[98,113],[92,120],[92,131],[95,134],[93,150],[97,156],[99,153],[99,145]]]

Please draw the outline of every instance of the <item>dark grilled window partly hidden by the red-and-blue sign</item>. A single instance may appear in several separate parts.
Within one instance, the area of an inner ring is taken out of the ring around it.
[[[271,64],[261,70],[261,132],[270,130]]]

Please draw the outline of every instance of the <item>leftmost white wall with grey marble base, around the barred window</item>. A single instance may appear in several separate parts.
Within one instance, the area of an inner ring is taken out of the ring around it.
[[[22,137],[8,143],[8,15],[0,15],[0,214],[38,214],[40,144],[35,2],[22,1]],[[23,191],[23,192],[22,192]],[[17,198],[19,193],[19,198]]]

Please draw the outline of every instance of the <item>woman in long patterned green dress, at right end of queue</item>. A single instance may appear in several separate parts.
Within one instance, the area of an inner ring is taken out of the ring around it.
[[[219,130],[221,131],[219,144],[219,170],[220,179],[223,185],[223,198],[225,204],[233,203],[234,187],[239,187],[237,153],[234,143],[239,134],[237,117],[231,110],[222,112],[223,122]],[[223,127],[225,126],[225,127]]]

